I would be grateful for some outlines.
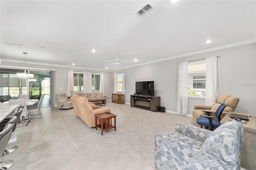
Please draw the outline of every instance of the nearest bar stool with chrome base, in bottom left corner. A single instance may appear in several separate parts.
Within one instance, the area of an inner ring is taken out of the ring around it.
[[[17,119],[17,117],[16,117]],[[0,132],[0,158],[2,157],[2,155],[4,154],[5,148],[7,146],[7,143],[11,137],[12,134],[12,128],[13,128],[13,124],[9,123],[8,125],[6,125],[4,127],[4,129]],[[0,162],[0,169],[1,170],[7,170],[8,168],[10,168],[12,165],[14,164],[13,160],[5,160]]]

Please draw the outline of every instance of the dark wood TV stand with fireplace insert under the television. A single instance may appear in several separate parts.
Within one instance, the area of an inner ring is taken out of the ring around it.
[[[160,106],[159,96],[131,95],[130,101],[131,107],[145,109],[153,112],[158,111],[158,107]]]

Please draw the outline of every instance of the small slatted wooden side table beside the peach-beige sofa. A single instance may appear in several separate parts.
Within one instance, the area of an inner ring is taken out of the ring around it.
[[[112,118],[114,118],[114,125],[112,125]],[[98,122],[99,119],[99,122]],[[103,131],[115,128],[116,131],[116,115],[113,113],[101,113],[95,115],[95,126],[96,130],[98,127],[101,128],[101,135],[103,135]]]

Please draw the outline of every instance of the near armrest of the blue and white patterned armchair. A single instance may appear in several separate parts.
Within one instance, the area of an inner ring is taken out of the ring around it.
[[[163,169],[236,169],[213,155],[178,142],[175,139],[155,135],[155,166]]]

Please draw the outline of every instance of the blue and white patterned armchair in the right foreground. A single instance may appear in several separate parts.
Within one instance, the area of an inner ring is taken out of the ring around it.
[[[175,132],[155,135],[158,170],[240,170],[243,126],[230,121],[213,132],[177,123]]]

